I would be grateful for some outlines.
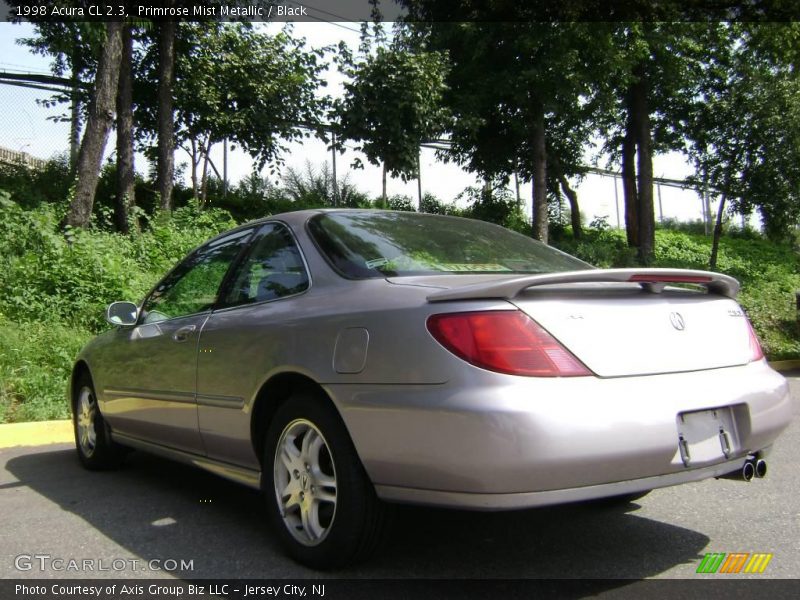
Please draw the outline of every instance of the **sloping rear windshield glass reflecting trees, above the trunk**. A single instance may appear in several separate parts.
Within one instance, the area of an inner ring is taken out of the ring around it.
[[[411,212],[328,212],[309,231],[345,277],[441,273],[555,273],[591,268],[559,250],[499,225]]]

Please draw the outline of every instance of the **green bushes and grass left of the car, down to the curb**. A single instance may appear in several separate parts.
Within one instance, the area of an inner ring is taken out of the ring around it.
[[[130,236],[57,224],[53,205],[24,210],[0,191],[0,422],[65,417],[69,369],[107,327],[105,307],[138,302],[189,250],[236,223],[190,203]]]

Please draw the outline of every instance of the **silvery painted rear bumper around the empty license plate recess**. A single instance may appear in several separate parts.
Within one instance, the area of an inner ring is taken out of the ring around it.
[[[613,379],[475,371],[438,386],[329,386],[382,498],[489,510],[697,481],[741,468],[791,418],[765,361]],[[734,447],[687,466],[679,415],[709,409],[730,414]]]

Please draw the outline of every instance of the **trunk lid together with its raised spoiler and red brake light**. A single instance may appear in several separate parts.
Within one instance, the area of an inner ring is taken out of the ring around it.
[[[430,286],[433,303],[505,299],[600,377],[697,371],[751,360],[750,328],[733,299],[739,284],[719,273],[592,269],[390,281]],[[692,283],[708,293],[667,288],[668,283]]]

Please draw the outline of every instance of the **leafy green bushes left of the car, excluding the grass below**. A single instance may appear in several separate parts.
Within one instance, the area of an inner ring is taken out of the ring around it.
[[[177,260],[235,225],[224,211],[195,204],[156,218],[146,233],[57,232],[55,210],[26,211],[0,197],[0,312],[18,322],[59,322],[91,331],[114,300],[141,299]]]

